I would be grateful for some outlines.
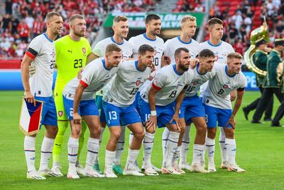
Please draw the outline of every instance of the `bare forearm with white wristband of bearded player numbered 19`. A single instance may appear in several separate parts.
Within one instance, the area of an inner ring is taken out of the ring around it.
[[[146,121],[145,127],[147,131],[155,132],[155,127],[157,126],[157,112],[155,111],[155,94],[158,93],[158,90],[151,87],[148,93],[148,102],[151,110],[151,115]]]

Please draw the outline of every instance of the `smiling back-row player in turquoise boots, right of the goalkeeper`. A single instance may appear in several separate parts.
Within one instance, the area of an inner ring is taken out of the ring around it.
[[[131,58],[133,49],[132,49],[131,43],[125,40],[125,38],[129,34],[129,22],[128,22],[127,17],[126,16],[116,16],[113,21],[112,29],[114,30],[114,36],[110,38],[105,38],[104,40],[99,41],[99,43],[97,43],[97,45],[94,46],[94,49],[92,50],[92,52],[94,53],[96,58],[103,57],[106,47],[111,43],[115,43],[117,46],[119,46],[119,48],[121,48],[124,59]],[[112,81],[113,80],[111,80],[111,82],[107,86],[102,88],[102,90],[99,90],[99,92],[97,92],[97,97],[96,97],[96,104],[99,109],[100,121],[101,121],[101,127],[102,127],[101,137],[99,139],[100,142],[102,142],[102,134],[107,125],[106,118],[104,115],[104,108],[102,107],[102,96],[107,92],[107,90],[109,90],[109,87],[111,86]],[[123,171],[120,166],[120,162],[121,162],[121,154],[124,150],[125,127],[122,127],[121,129],[123,131],[121,132],[121,137],[119,137],[119,140],[117,142],[116,157],[114,159],[114,167],[113,167],[116,174],[123,174]],[[97,171],[100,171],[99,164],[97,162],[94,164],[94,169],[97,169]]]

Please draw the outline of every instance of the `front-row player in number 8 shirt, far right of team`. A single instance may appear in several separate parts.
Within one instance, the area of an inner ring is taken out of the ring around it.
[[[236,112],[241,106],[246,86],[246,77],[241,73],[241,54],[229,53],[227,65],[215,65],[216,75],[209,80],[209,85],[204,91],[202,102],[204,102],[207,117],[207,139],[208,170],[216,171],[214,164],[214,148],[217,122],[218,126],[224,128],[225,147],[228,163],[228,171],[244,172],[236,165],[236,141],[234,129],[236,127]],[[234,110],[231,110],[230,93],[237,90]]]

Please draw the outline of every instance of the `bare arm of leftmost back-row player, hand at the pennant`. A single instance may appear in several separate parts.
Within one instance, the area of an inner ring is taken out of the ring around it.
[[[23,81],[23,88],[25,90],[25,98],[28,102],[33,103],[34,105],[36,104],[35,102],[35,97],[31,93],[31,86],[29,83],[29,66],[33,62],[33,58],[25,55],[23,56],[23,60],[21,63],[21,77]]]

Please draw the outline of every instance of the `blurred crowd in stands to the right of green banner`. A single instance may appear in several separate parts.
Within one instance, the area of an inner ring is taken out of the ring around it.
[[[233,7],[236,11],[231,13]],[[251,30],[259,27],[264,17],[268,23],[271,42],[283,36],[283,16],[283,0],[245,0],[241,4],[239,1],[216,1],[209,11],[209,18],[217,17],[224,21],[222,40],[231,43],[235,51],[241,54],[250,46]]]

